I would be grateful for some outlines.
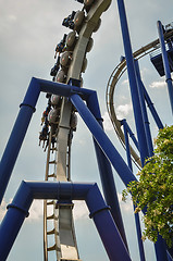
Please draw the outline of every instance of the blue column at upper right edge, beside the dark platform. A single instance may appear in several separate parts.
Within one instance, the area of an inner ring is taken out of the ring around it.
[[[159,41],[160,41],[161,51],[162,51],[165,82],[166,82],[168,89],[169,89],[171,109],[172,109],[172,113],[173,113],[173,85],[172,85],[172,78],[171,78],[170,64],[169,64],[168,53],[166,53],[165,45],[164,45],[162,24],[160,21],[158,21],[157,25],[158,25],[158,33],[159,33]]]

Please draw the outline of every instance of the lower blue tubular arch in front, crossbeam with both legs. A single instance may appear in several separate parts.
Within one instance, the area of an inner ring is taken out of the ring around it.
[[[110,260],[131,261],[97,184],[23,182],[0,226],[0,260],[7,260],[34,199],[85,200]]]

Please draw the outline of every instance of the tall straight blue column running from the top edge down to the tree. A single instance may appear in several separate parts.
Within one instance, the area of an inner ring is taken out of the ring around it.
[[[129,78],[131,96],[134,108],[135,124],[137,130],[137,137],[139,142],[139,151],[141,158],[141,164],[144,165],[145,159],[149,156],[147,147],[146,132],[144,127],[143,113],[140,108],[140,101],[138,96],[137,80],[134,66],[134,58],[132,52],[127,20],[125,14],[125,7],[123,0],[118,0],[120,22],[122,28],[123,44],[125,50],[125,58],[127,64],[127,73]]]

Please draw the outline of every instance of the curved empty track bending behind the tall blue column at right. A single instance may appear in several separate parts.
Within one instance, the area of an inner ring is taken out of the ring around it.
[[[169,38],[173,37],[173,30],[166,33],[164,35],[164,39],[168,40]],[[141,47],[137,51],[133,53],[134,59],[139,60],[143,57],[151,53],[152,51],[157,50],[160,48],[159,39],[151,41],[150,44],[146,45],[145,47]],[[125,73],[126,71],[126,60],[124,59],[112,72],[108,85],[107,85],[107,91],[106,91],[106,101],[107,101],[107,109],[108,113],[110,116],[110,120],[112,122],[113,128],[123,146],[125,149],[125,138],[124,134],[121,129],[121,121],[118,120],[116,113],[115,113],[115,104],[114,104],[114,91],[116,84],[121,76]],[[131,146],[131,156],[132,160],[134,163],[137,165],[138,169],[141,167],[141,162],[140,162],[140,157],[136,153],[136,151],[133,149]]]

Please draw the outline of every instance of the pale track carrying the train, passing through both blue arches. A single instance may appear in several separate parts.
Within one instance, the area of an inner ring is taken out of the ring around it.
[[[91,1],[91,7],[87,10],[83,24],[77,29],[78,36],[73,50],[71,50],[72,60],[66,72],[69,83],[71,78],[81,80],[86,62],[86,53],[88,45],[91,41],[91,34],[96,32],[100,22],[100,16],[104,12],[111,0]],[[83,9],[84,11],[84,9]],[[63,54],[63,53],[62,53]],[[62,66],[63,70],[63,66]],[[58,75],[55,80],[60,82]],[[51,145],[52,130],[50,130],[49,145],[46,164],[46,181],[71,181],[71,144],[73,137],[73,128],[71,126],[71,117],[74,113],[72,104],[62,99],[60,120],[57,123],[55,146]],[[45,201],[44,203],[44,253],[45,261],[49,259],[49,253],[53,252],[58,261],[79,260],[75,231],[73,224],[73,203]],[[53,256],[54,257],[54,256]]]

